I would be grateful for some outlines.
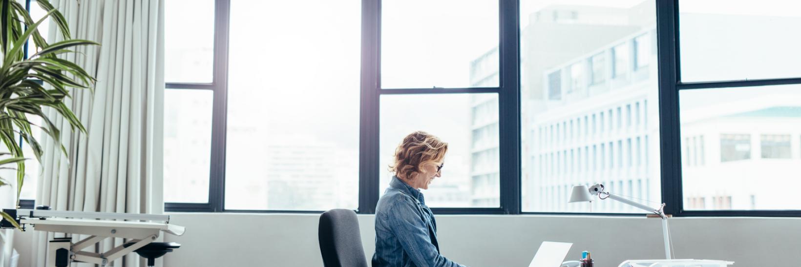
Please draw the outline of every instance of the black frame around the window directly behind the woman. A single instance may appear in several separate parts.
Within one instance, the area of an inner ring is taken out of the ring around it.
[[[381,1],[362,0],[359,213],[375,213],[380,185],[381,95],[497,94],[500,205],[497,208],[432,208],[437,214],[518,214],[520,199],[520,29],[519,2],[498,0],[497,87],[381,89]]]

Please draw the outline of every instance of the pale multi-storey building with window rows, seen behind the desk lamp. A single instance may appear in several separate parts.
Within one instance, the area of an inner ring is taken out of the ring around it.
[[[631,33],[543,71],[544,109],[529,113],[523,160],[525,209],[584,211],[567,203],[574,185],[602,183],[644,201],[658,200],[658,101],[655,30]],[[633,212],[602,201],[595,211]]]

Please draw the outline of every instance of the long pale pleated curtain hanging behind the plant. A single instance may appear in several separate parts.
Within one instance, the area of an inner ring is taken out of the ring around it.
[[[164,94],[163,0],[50,0],[69,22],[72,38],[101,46],[83,46],[66,58],[95,74],[94,94],[73,90],[66,104],[87,134],[62,127],[62,144],[42,137],[42,174],[37,205],[56,210],[115,213],[163,213],[162,145]],[[61,39],[51,25],[48,40]],[[50,118],[58,118],[50,110]],[[37,232],[34,266],[46,262],[47,240]],[[74,237],[75,238],[75,237]],[[113,243],[113,244],[112,244]],[[106,241],[100,251],[122,244]],[[135,255],[135,254],[131,254]],[[137,266],[138,256],[115,261]]]

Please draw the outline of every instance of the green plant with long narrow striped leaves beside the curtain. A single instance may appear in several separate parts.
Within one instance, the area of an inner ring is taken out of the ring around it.
[[[61,144],[58,126],[48,118],[42,110],[49,107],[56,110],[65,122],[70,124],[70,130],[80,130],[84,134],[86,129],[78,118],[72,113],[64,100],[70,98],[70,89],[90,89],[95,84],[95,78],[88,74],[81,66],[69,60],[58,58],[59,54],[75,53],[70,50],[75,46],[99,45],[96,42],[70,38],[70,28],[64,16],[58,12],[50,2],[37,0],[39,6],[47,14],[34,22],[30,14],[20,3],[14,0],[0,0],[0,53],[2,53],[2,67],[0,67],[0,141],[6,145],[7,152],[0,153],[5,156],[0,160],[0,169],[16,169],[17,196],[22,190],[22,178],[25,177],[25,155],[22,153],[22,142],[30,145],[37,161],[41,161],[42,146],[32,129],[41,129],[43,133],[53,138],[56,144]],[[58,26],[62,34],[61,42],[47,43],[39,34],[38,26],[47,18]],[[28,40],[32,41],[29,56],[25,57],[25,46]],[[30,118],[41,118],[42,123],[33,123]],[[66,149],[61,147],[62,153]],[[7,165],[16,164],[16,168]],[[0,177],[0,186],[8,185],[8,180]],[[2,213],[6,221],[10,221],[19,228],[14,218]]]

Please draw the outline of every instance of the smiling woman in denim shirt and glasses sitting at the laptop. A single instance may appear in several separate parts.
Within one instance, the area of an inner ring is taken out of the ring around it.
[[[440,254],[437,221],[420,189],[441,176],[448,143],[417,131],[395,149],[395,175],[376,206],[376,253],[373,267],[464,266]]]

